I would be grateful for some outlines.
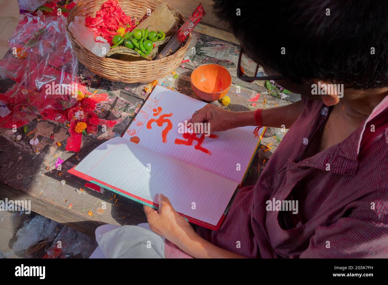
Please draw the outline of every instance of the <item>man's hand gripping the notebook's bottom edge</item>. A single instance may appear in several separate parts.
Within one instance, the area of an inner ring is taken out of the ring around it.
[[[170,200],[165,195],[160,194],[158,196],[158,203],[158,211],[151,207],[143,206],[149,228],[179,246],[182,239],[195,233],[194,229],[185,218],[174,210]]]

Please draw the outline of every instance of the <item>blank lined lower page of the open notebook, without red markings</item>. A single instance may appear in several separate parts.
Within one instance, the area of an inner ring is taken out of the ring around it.
[[[74,169],[156,204],[161,193],[176,211],[211,225],[238,185],[120,137],[102,143]]]

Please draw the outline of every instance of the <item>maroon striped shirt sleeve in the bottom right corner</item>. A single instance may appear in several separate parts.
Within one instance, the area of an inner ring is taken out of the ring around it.
[[[374,220],[340,218],[319,226],[300,258],[387,258],[388,225]]]

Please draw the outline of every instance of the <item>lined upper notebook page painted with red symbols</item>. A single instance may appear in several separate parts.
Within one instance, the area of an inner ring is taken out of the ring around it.
[[[190,119],[192,114],[204,105],[206,105],[205,102],[157,85],[123,138],[139,139],[139,145],[147,149],[240,183],[259,142],[259,139],[253,135],[255,127],[247,126],[212,133],[217,135],[217,138],[205,137],[201,147],[209,150],[210,155],[195,149],[194,146],[197,144],[195,140],[192,145],[175,143],[177,138],[185,140],[182,133],[178,132],[178,123],[184,123],[185,120]],[[158,107],[161,107],[160,112],[157,110]],[[156,113],[154,109],[159,112],[157,116],[153,115]],[[151,130],[147,128],[147,123],[150,119],[158,119],[161,115],[170,113],[172,115],[165,119],[171,121],[172,129],[166,135],[166,142],[163,143],[162,131],[168,123],[163,123],[161,126],[156,122],[151,123]],[[263,130],[264,128],[259,130],[259,135],[262,135]]]

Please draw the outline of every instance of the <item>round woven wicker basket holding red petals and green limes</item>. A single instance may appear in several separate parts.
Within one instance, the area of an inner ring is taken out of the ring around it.
[[[73,46],[74,53],[83,65],[106,79],[125,83],[149,83],[154,79],[165,77],[179,66],[189,48],[191,35],[184,45],[173,55],[156,60],[130,62],[112,58],[102,58],[84,48],[73,37],[73,34],[68,29],[68,25],[76,16],[83,16],[85,18],[90,15],[95,16],[95,12],[100,9],[104,2],[105,0],[81,0],[69,13],[66,31]],[[143,19],[144,15],[147,13],[147,8],[154,10],[156,6],[163,3],[159,0],[118,0],[118,2],[126,15],[138,20]],[[177,9],[171,5],[166,5],[172,12],[177,13],[180,24],[183,24],[186,21],[185,17]]]

